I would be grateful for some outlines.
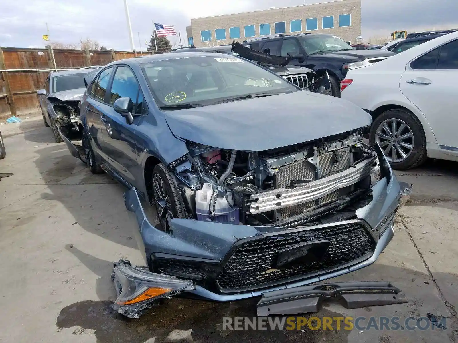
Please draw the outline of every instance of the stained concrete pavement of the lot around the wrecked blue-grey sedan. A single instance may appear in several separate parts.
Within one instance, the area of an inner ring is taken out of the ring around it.
[[[387,280],[408,304],[347,310],[330,304],[311,316],[447,317],[434,331],[223,331],[223,316],[256,316],[255,300],[171,299],[137,320],[115,313],[112,262],[141,259],[122,193],[93,175],[41,117],[0,126],[7,156],[0,172],[0,342],[455,342],[458,338],[458,164],[428,162],[398,172],[414,183],[396,234],[373,265],[335,281]],[[414,323],[414,321],[412,322]],[[413,324],[416,325],[416,324]]]

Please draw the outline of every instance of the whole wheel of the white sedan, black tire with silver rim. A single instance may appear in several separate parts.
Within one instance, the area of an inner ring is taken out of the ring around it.
[[[397,132],[390,135],[389,133],[393,131],[393,122],[396,123]],[[388,130],[384,128],[384,124],[387,125]],[[405,109],[388,110],[378,116],[371,125],[369,141],[372,146],[379,142],[390,165],[396,170],[418,167],[428,159],[425,131],[418,118]],[[393,150],[396,152],[393,153]]]

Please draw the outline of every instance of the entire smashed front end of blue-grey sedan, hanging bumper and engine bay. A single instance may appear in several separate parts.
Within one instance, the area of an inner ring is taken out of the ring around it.
[[[233,301],[375,262],[394,235],[400,187],[380,146],[359,132],[266,151],[188,142],[189,154],[168,166],[186,219],[155,227],[136,189],[124,194],[142,271],[185,282],[188,296]]]

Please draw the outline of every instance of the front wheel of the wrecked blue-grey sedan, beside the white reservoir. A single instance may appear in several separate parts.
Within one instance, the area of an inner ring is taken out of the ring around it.
[[[169,220],[186,218],[186,212],[178,187],[162,163],[153,169],[151,187],[159,221],[165,232],[171,232]]]

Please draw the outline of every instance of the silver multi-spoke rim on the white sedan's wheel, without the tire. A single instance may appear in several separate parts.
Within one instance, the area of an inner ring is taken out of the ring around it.
[[[390,162],[405,161],[414,149],[414,134],[407,123],[391,118],[379,125],[375,141]]]

